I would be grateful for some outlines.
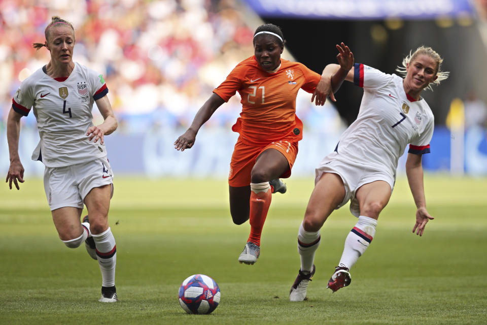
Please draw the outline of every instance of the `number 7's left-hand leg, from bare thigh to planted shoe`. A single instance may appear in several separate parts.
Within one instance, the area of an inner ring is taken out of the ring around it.
[[[298,251],[301,268],[289,293],[291,301],[303,301],[306,298],[307,286],[315,274],[314,261],[316,250],[320,246],[320,229],[344,197],[345,187],[337,174],[324,173],[316,183],[299,227]]]

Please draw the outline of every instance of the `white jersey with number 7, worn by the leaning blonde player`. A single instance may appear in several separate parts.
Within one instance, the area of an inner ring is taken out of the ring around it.
[[[397,161],[407,144],[409,152],[430,152],[434,116],[426,101],[414,101],[403,79],[355,63],[354,83],[364,88],[357,119],[341,135],[338,155],[384,171],[396,179]]]

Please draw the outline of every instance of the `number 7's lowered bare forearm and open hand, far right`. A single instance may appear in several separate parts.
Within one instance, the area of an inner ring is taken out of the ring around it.
[[[412,232],[423,236],[426,223],[434,219],[426,210],[425,189],[423,182],[423,166],[421,165],[421,155],[408,153],[406,159],[406,176],[411,189],[414,203],[416,204],[416,223]]]

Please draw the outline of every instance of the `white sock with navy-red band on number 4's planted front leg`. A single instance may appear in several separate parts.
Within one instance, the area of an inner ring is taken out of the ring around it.
[[[115,265],[117,246],[110,227],[99,235],[92,234],[96,246],[96,256],[101,270],[101,286],[115,285]]]

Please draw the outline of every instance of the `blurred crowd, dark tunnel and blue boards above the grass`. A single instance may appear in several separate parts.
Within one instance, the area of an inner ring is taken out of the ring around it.
[[[264,21],[283,28],[285,58],[319,73],[336,61],[334,45],[341,41],[352,48],[357,62],[386,73],[394,73],[409,50],[432,46],[451,74],[433,92],[424,92],[436,123],[425,169],[485,175],[487,71],[482,62],[487,27],[482,6],[482,1],[468,0],[3,0],[0,170],[9,166],[5,123],[13,94],[49,60],[46,49],[36,51],[31,44],[44,40],[50,17],[59,15],[75,26],[74,60],[103,73],[107,81],[119,120],[117,132],[106,139],[117,176],[227,175],[236,140],[230,126],[241,109],[238,94],[202,127],[193,149],[181,153],[172,143],[214,87],[253,54],[253,31]],[[315,107],[310,95],[300,92],[297,113],[305,130],[293,175],[312,177],[317,163],[357,116],[361,95],[361,89],[345,84],[335,105]],[[96,107],[93,112],[99,121]],[[31,113],[21,121],[25,175],[41,176],[43,165],[30,160],[39,139],[35,118]]]

